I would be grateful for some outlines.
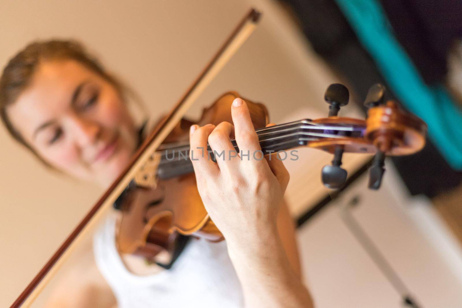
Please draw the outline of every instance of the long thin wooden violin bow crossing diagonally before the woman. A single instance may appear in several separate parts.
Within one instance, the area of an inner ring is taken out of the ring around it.
[[[53,278],[60,266],[72,253],[73,249],[77,246],[78,241],[86,236],[91,229],[93,229],[92,227],[96,226],[97,222],[99,222],[104,214],[106,214],[106,212],[112,207],[112,204],[128,186],[130,181],[132,181],[136,172],[152,156],[152,153],[168,136],[178,121],[181,120],[189,107],[207,88],[207,85],[210,84],[225,64],[252,34],[260,16],[261,13],[255,9],[250,9],[250,11],[245,14],[239,24],[237,24],[237,27],[232,31],[231,35],[213,56],[212,60],[210,60],[197,79],[195,79],[193,84],[188,88],[186,93],[182,96],[178,103],[176,103],[169,115],[167,115],[164,120],[159,123],[159,125],[143,142],[131,162],[128,164],[128,167],[122,172],[116,181],[113,182],[98,202],[80,221],[77,227],[61,244],[61,247],[58,248],[40,272],[37,273],[24,291],[12,303],[10,306],[11,308],[18,308],[21,306],[29,307],[32,302],[34,302],[46,284],[48,284],[49,280]]]

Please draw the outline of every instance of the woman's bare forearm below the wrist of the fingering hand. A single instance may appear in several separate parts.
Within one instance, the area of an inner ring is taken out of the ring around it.
[[[277,230],[243,247],[228,242],[231,261],[241,281],[246,307],[310,308],[310,294],[293,270]]]

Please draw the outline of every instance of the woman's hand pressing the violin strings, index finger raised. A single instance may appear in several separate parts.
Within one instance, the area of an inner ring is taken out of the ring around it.
[[[276,217],[289,174],[277,154],[263,159],[249,109],[242,99],[234,100],[231,116],[235,127],[228,122],[216,127],[191,127],[190,158],[210,217],[228,245],[239,242],[242,248],[277,234]],[[240,153],[231,144],[233,136]],[[216,163],[203,151],[207,142],[214,153],[224,151],[223,156],[215,155]]]

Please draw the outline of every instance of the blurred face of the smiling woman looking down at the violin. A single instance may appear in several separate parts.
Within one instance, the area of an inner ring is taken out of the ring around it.
[[[7,112],[24,140],[50,165],[102,186],[122,172],[138,143],[115,87],[73,60],[41,63]]]

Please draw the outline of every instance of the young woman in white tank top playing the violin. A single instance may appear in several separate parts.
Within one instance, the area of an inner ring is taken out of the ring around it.
[[[8,132],[52,169],[107,187],[140,144],[128,88],[72,41],[34,42],[0,79],[0,116]],[[191,148],[259,144],[245,102],[233,122],[191,127]],[[299,275],[288,175],[271,161],[193,161],[199,193],[226,241],[191,241],[170,270],[117,253],[111,215],[94,236],[92,258],[76,266],[49,300],[53,307],[309,307]],[[225,206],[226,205],[226,206]],[[237,228],[237,226],[239,228]],[[99,269],[99,272],[96,270]],[[102,275],[101,275],[101,274]]]

